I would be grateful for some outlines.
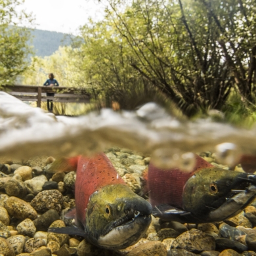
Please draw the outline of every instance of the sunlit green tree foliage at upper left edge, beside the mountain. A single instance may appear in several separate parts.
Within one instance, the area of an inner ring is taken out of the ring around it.
[[[27,41],[30,32],[17,24],[32,24],[25,12],[16,12],[23,1],[0,1],[0,85],[11,84],[28,68],[27,56],[31,53]]]

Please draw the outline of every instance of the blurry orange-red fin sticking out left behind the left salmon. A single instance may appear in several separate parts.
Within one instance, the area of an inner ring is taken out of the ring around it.
[[[56,160],[49,165],[48,171],[51,173],[76,171],[79,158],[80,156],[75,156],[74,158],[56,158]]]

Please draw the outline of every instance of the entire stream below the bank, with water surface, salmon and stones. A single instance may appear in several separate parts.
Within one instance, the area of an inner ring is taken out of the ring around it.
[[[0,255],[256,255],[255,138],[154,102],[67,117],[0,92]]]

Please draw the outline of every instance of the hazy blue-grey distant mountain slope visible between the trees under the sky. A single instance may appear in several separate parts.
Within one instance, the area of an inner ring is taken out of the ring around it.
[[[71,38],[74,36],[66,33],[51,32],[47,30],[32,30],[32,37],[35,55],[36,56],[50,56],[60,45],[70,45]]]

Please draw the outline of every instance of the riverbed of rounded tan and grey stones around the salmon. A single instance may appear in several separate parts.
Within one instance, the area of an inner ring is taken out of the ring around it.
[[[116,171],[137,194],[142,194],[142,172],[149,156],[113,147],[106,156]],[[219,165],[214,154],[202,152],[206,161]],[[0,256],[250,256],[256,255],[256,203],[221,223],[165,223],[152,216],[152,223],[137,244],[123,250],[100,249],[78,236],[47,232],[50,226],[72,224],[65,213],[75,207],[75,171],[50,173],[54,158],[30,160],[0,158]],[[235,171],[243,171],[240,165]]]

